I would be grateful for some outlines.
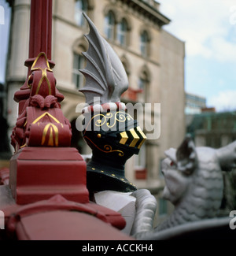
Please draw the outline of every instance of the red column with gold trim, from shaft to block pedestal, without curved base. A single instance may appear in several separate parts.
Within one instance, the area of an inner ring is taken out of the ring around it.
[[[19,116],[13,128],[16,154],[9,186],[17,204],[63,195],[88,202],[86,162],[71,143],[71,127],[60,104],[51,61],[52,0],[31,0],[28,76],[15,93]]]

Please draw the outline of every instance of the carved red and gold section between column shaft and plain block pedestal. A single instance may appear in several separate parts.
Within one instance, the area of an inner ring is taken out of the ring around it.
[[[29,98],[24,102],[11,136],[15,150],[27,146],[70,146],[71,124],[61,112],[56,80],[45,53],[35,58],[27,86]]]

